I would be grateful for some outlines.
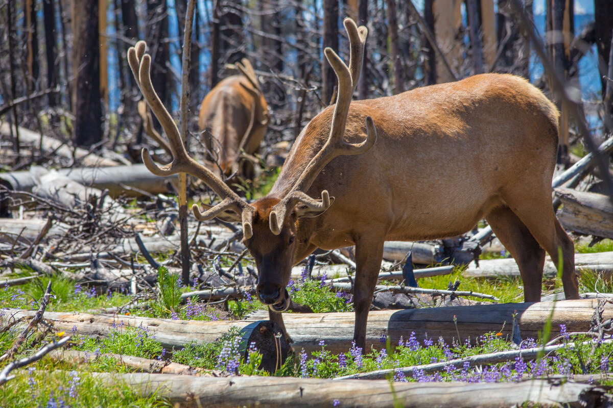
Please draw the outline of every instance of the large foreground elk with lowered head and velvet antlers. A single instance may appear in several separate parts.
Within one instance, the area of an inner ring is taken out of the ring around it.
[[[257,294],[270,319],[283,327],[292,265],[316,248],[356,245],[354,338],[364,347],[384,241],[457,236],[482,218],[516,259],[526,302],[540,300],[545,251],[557,264],[558,248],[566,299],[577,299],[574,245],[551,201],[555,106],[524,79],[497,74],[351,102],[367,29],[349,18],[344,24],[349,67],[325,50],[338,77],[335,106],[302,130],[270,194],[252,203],[188,156],[151,87],[145,43],[129,50],[173,149],[173,162],[162,167],[143,149],[145,165],[159,175],[188,172],[223,198],[205,212],[194,205],[194,214],[242,223],[259,274]]]

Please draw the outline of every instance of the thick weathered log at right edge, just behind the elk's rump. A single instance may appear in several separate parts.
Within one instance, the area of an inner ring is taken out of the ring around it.
[[[570,231],[596,237],[613,238],[613,205],[606,195],[556,188],[563,204],[557,217]]]

